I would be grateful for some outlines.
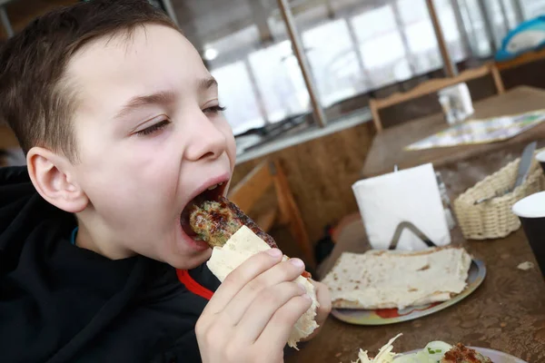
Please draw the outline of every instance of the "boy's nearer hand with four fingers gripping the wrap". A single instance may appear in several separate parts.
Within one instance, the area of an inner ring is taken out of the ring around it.
[[[216,290],[195,327],[203,362],[283,361],[292,327],[312,301],[293,282],[302,260],[281,260],[277,249],[258,253]]]

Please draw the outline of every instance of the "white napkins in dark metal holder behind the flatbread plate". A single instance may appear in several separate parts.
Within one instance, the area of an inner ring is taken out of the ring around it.
[[[431,164],[355,182],[352,190],[372,249],[421,250],[451,243]]]

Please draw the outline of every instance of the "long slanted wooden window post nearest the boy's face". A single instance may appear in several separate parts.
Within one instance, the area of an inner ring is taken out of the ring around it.
[[[286,29],[288,30],[288,35],[290,36],[290,40],[292,41],[293,52],[295,53],[297,62],[301,67],[302,78],[304,79],[307,91],[309,93],[309,96],[311,97],[314,119],[320,127],[325,127],[325,124],[327,123],[325,119],[325,113],[323,113],[322,105],[320,104],[320,100],[318,99],[318,93],[316,92],[316,88],[314,87],[314,83],[312,82],[311,67],[307,63],[307,58],[306,54],[304,54],[302,42],[299,39],[299,34],[297,34],[297,28],[295,27],[295,21],[293,20],[292,10],[290,9],[288,0],[278,0],[278,6],[280,8],[280,13],[282,14],[284,24],[286,25]]]

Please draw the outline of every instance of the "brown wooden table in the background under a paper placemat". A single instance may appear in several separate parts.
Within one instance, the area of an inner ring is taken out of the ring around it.
[[[507,93],[495,95],[474,103],[474,117],[478,119],[505,114],[524,113],[545,109],[545,90],[520,86]],[[400,169],[411,168],[432,162],[437,169],[453,162],[459,162],[488,152],[495,152],[513,146],[545,139],[545,123],[540,123],[527,132],[505,142],[481,145],[463,145],[406,152],[403,149],[412,142],[418,142],[448,127],[442,114],[434,114],[409,123],[386,129],[378,133],[365,160],[362,175],[365,178],[392,172],[394,165]]]

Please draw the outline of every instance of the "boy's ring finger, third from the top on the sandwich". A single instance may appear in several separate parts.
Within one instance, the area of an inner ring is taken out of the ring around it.
[[[291,281],[263,289],[262,293],[253,299],[252,305],[238,323],[235,339],[243,341],[245,344],[253,344],[262,334],[274,313],[292,298],[304,293],[305,289],[301,285]]]

